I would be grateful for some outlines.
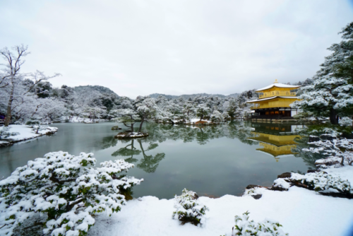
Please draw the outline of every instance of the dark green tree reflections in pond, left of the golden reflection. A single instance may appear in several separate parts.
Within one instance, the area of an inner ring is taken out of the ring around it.
[[[101,147],[102,149],[116,146],[118,142],[127,143],[123,148],[114,151],[114,157],[128,157],[125,160],[129,163],[137,163],[136,167],[141,170],[152,173],[157,170],[161,160],[165,157],[165,153],[156,153],[155,155],[148,155],[148,151],[152,151],[158,147],[158,143],[162,143],[169,139],[174,141],[182,140],[184,143],[196,141],[200,145],[205,145],[214,138],[237,138],[242,143],[249,145],[257,144],[256,142],[246,139],[251,136],[251,123],[246,122],[231,122],[225,125],[217,126],[176,126],[170,124],[156,124],[150,123],[145,126],[146,131],[150,136],[139,139],[119,140],[113,136],[103,138]],[[136,148],[136,142],[138,146]],[[148,148],[143,148],[143,143],[148,143]],[[138,149],[139,148],[139,149]],[[138,156],[143,158],[140,160]]]

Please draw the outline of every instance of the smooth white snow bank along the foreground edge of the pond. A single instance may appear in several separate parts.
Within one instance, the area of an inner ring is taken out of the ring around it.
[[[251,213],[251,220],[279,221],[282,230],[290,236],[343,235],[352,223],[352,200],[321,196],[299,187],[291,187],[289,191],[262,188],[257,191],[263,195],[258,200],[251,196],[200,197],[198,200],[210,209],[202,227],[190,223],[180,225],[179,220],[173,220],[174,199],[144,196],[128,201],[125,208],[111,218],[97,218],[88,235],[102,235],[102,232],[104,236],[231,235],[234,216],[246,211]]]

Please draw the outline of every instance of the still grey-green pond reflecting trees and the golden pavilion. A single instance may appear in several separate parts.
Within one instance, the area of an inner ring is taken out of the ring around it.
[[[94,153],[97,165],[122,158],[135,164],[127,175],[145,181],[133,188],[134,197],[171,199],[184,188],[200,196],[240,196],[248,184],[271,186],[283,172],[314,168],[313,157],[299,151],[300,136],[295,129],[301,125],[232,122],[199,128],[146,124],[143,131],[150,136],[133,140],[114,138],[114,125],[53,124],[59,131],[52,136],[0,148],[0,177],[8,177],[16,167],[45,153]]]

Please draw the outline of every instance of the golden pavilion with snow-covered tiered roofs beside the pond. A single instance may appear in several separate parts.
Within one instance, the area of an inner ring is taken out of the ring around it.
[[[296,108],[290,105],[299,100],[297,93],[292,90],[299,88],[299,85],[287,85],[278,83],[277,79],[272,85],[255,90],[261,93],[257,100],[248,101],[253,103],[253,119],[293,119],[294,114],[298,113]]]

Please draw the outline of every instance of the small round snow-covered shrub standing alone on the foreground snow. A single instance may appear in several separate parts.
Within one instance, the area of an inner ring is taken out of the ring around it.
[[[180,196],[175,196],[173,218],[177,218],[182,223],[192,223],[193,225],[203,224],[207,206],[198,201],[198,195],[194,191],[184,189]]]

